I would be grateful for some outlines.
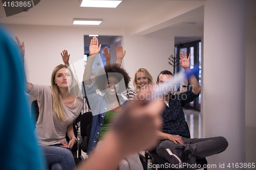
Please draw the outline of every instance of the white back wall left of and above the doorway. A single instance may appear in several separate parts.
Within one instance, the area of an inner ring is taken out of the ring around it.
[[[99,35],[122,35],[122,29],[92,27],[58,27],[7,25],[10,31],[25,41],[25,66],[31,83],[50,85],[52,70],[62,64],[60,53],[68,50],[70,63],[83,58],[83,35],[97,32]]]

